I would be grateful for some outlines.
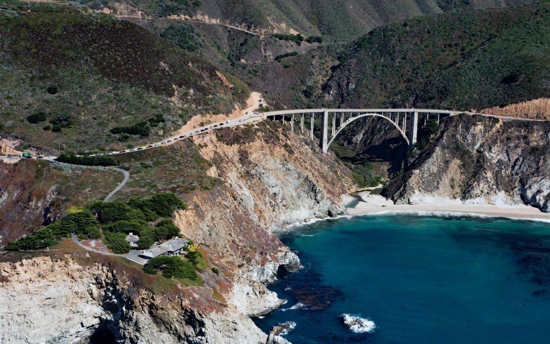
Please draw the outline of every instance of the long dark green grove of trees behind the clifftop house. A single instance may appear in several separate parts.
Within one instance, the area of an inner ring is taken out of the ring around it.
[[[140,248],[149,248],[155,241],[173,238],[179,228],[172,223],[175,209],[184,209],[185,203],[172,193],[159,193],[147,199],[132,199],[128,203],[121,201],[94,201],[86,209],[65,216],[40,230],[8,243],[7,250],[33,250],[48,247],[56,241],[76,233],[79,239],[101,238],[105,234],[105,243],[114,253],[130,251],[126,236],[134,232],[140,236]],[[155,226],[151,221],[157,221]]]

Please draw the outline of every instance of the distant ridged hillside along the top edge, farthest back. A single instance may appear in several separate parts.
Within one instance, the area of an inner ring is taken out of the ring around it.
[[[94,9],[108,8],[123,14],[168,17],[186,15],[227,23],[262,34],[274,32],[324,36],[331,40],[355,39],[376,26],[423,14],[458,8],[516,6],[529,0],[204,0],[157,2],[116,0],[84,1]]]

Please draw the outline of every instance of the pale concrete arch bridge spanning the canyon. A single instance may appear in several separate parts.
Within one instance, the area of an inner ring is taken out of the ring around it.
[[[266,118],[272,117],[273,121],[282,119],[284,123],[288,123],[294,130],[294,122],[299,121],[300,131],[309,130],[310,138],[313,139],[313,121],[315,116],[321,117],[321,135],[319,145],[323,152],[328,151],[328,146],[334,141],[336,136],[351,122],[363,117],[381,117],[393,124],[409,146],[409,149],[414,147],[416,136],[419,129],[419,124],[426,124],[427,120],[432,118],[438,123],[443,117],[456,116],[465,113],[473,116],[479,114],[485,117],[501,118],[505,121],[522,120],[531,121],[525,118],[493,116],[483,113],[464,112],[454,110],[432,110],[432,109],[409,109],[409,108],[389,108],[389,109],[299,109],[299,110],[280,110],[264,112]],[[309,117],[309,125],[306,123]],[[309,126],[309,128],[306,128]]]

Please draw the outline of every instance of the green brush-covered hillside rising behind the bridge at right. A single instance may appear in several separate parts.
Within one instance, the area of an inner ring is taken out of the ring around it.
[[[357,40],[323,86],[330,105],[482,108],[548,96],[550,6],[451,12]]]

